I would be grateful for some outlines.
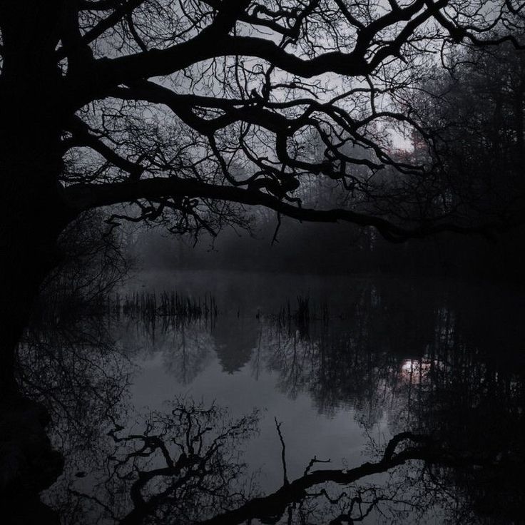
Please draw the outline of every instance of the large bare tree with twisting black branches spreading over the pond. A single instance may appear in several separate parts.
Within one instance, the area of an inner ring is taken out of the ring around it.
[[[391,240],[496,228],[443,216],[410,220],[365,204],[385,167],[402,180],[425,173],[394,155],[396,126],[429,141],[399,111],[399,95],[449,45],[519,48],[521,7],[515,0],[3,2],[4,384],[14,387],[13,348],[56,265],[56,239],[84,210],[133,203],[136,213],[126,208],[113,219],[164,220],[178,232],[242,222],[244,205],[370,225]],[[322,159],[310,154],[312,137]],[[352,198],[337,209],[303,207],[300,185],[312,176]]]

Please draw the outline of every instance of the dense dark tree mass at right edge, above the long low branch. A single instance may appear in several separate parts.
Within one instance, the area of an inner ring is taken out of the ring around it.
[[[412,108],[434,138],[442,213],[519,223],[525,194],[525,55],[502,44],[447,58]],[[422,154],[421,145],[416,150]]]

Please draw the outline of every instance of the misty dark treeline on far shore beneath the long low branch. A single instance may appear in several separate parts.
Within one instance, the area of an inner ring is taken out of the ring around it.
[[[525,228],[496,240],[442,234],[394,244],[371,228],[284,220],[272,244],[275,223],[263,221],[253,236],[225,230],[214,243],[202,238],[196,245],[150,230],[138,239],[134,251],[146,267],[523,280]]]

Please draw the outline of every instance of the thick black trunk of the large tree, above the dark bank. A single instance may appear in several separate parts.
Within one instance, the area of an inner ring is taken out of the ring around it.
[[[16,388],[16,345],[73,217],[58,182],[67,99],[54,56],[60,9],[58,0],[0,4],[0,390]]]

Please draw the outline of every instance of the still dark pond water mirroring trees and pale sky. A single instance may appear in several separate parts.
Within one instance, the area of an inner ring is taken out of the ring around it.
[[[64,524],[519,522],[520,294],[248,272],[111,293],[21,352]]]

